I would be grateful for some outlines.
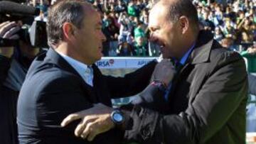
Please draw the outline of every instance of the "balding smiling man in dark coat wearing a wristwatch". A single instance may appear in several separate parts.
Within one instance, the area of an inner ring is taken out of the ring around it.
[[[150,84],[131,112],[121,108],[122,113],[113,113],[124,118],[121,124],[112,122],[125,131],[124,139],[169,144],[245,143],[248,87],[242,57],[222,48],[212,33],[199,31],[196,8],[188,0],[162,0],[154,5],[149,29],[151,40],[161,45],[164,58],[176,61],[177,72],[171,82],[162,78]],[[154,74],[166,69],[156,69]],[[112,113],[102,114],[97,107],[106,109],[94,106],[78,115],[88,118],[89,111],[98,117]],[[72,119],[65,118],[63,126]],[[81,135],[85,137],[105,126],[98,123],[93,131],[85,129]]]

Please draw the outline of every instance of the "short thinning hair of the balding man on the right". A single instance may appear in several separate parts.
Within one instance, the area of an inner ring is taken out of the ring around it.
[[[181,16],[186,16],[188,21],[198,26],[197,10],[191,0],[177,0],[172,4],[167,4],[167,9],[171,21],[178,21]]]

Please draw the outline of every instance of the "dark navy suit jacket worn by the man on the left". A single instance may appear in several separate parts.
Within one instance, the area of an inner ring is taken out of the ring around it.
[[[155,64],[151,62],[124,78],[104,76],[92,65],[92,88],[53,49],[39,55],[28,70],[18,98],[20,143],[88,143],[74,135],[78,121],[61,128],[63,118],[99,102],[112,106],[111,98],[142,91],[149,82]],[[119,143],[122,134],[113,129],[97,135],[92,143]]]

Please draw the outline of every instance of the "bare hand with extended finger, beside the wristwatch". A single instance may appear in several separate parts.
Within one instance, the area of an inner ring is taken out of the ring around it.
[[[75,135],[92,141],[96,135],[114,128],[114,123],[111,120],[112,111],[112,108],[103,104],[94,104],[90,109],[70,114],[64,118],[61,126],[65,127],[68,123],[81,119],[75,128]]]

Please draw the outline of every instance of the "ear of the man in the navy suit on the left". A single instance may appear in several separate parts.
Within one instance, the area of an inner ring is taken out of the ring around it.
[[[62,28],[63,28],[64,39],[73,41],[75,36],[74,35],[75,26],[73,26],[72,23],[64,23]]]

